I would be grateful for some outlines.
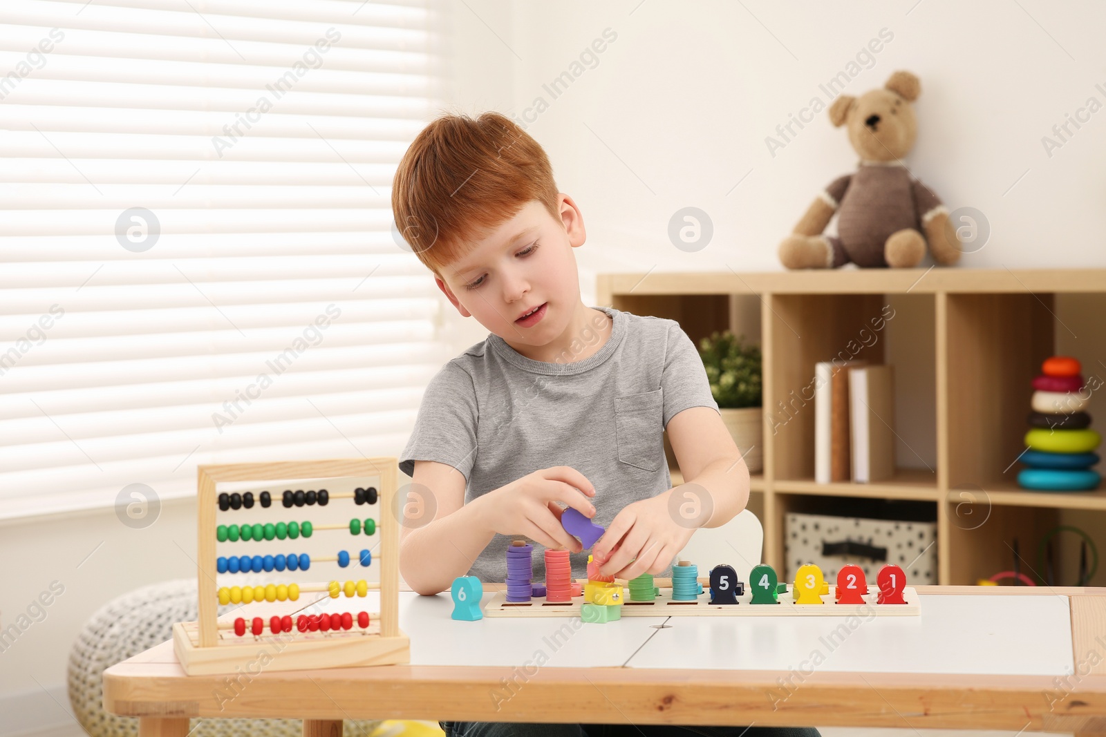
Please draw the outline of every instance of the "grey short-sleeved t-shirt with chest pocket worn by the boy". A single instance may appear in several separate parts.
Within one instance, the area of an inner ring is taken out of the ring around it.
[[[594,520],[603,527],[629,503],[668,491],[668,421],[690,407],[718,410],[702,361],[676,320],[595,309],[614,325],[582,361],[535,361],[489,334],[446,364],[422,396],[400,471],[413,475],[416,460],[451,465],[465,475],[468,504],[540,468],[572,466],[595,486]],[[581,334],[576,354],[601,339],[594,327]],[[468,575],[503,582],[510,541],[495,535]],[[533,545],[541,581],[545,548]],[[570,556],[574,578],[587,575],[587,555]]]

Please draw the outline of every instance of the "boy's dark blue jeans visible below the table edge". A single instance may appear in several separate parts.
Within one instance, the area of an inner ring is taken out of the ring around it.
[[[667,724],[512,724],[439,722],[446,737],[820,737],[814,727],[698,727]]]

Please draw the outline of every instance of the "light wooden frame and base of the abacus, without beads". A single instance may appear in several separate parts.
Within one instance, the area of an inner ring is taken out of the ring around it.
[[[378,635],[296,640],[294,633],[281,641],[279,656],[264,659],[267,671],[300,671],[319,667],[390,665],[410,662],[410,640],[399,630],[399,535],[398,520],[389,510],[396,494],[398,465],[394,457],[335,459],[323,461],[278,461],[198,466],[197,593],[198,622],[173,625],[174,652],[189,675],[234,673],[257,663],[262,647],[252,639],[220,640],[216,582],[216,485],[221,482],[264,482],[289,478],[378,477],[377,530],[380,534],[380,615]],[[197,631],[198,628],[198,631]]]

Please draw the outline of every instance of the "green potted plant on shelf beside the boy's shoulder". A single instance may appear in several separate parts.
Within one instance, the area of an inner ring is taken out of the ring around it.
[[[726,330],[700,340],[699,357],[722,422],[741,451],[749,473],[760,473],[764,467],[760,347],[745,343],[743,335],[738,337]]]

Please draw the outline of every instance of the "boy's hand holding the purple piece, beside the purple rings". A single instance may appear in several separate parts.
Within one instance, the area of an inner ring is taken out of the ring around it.
[[[587,497],[595,496],[592,482],[571,466],[542,468],[488,492],[474,502],[486,529],[500,535],[525,535],[546,548],[580,552],[583,547],[561,526],[563,502],[585,517],[595,514]]]

